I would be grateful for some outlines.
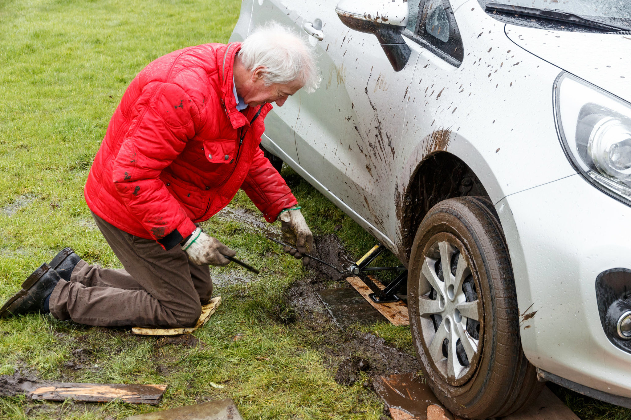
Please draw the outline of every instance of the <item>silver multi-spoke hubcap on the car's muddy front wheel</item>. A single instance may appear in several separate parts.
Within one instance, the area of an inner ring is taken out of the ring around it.
[[[481,300],[463,246],[439,234],[423,253],[418,312],[428,358],[451,385],[462,385],[480,358]]]

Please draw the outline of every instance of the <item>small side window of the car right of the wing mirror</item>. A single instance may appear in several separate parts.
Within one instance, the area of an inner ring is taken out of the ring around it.
[[[410,18],[404,35],[459,67],[464,49],[449,0],[408,0]]]

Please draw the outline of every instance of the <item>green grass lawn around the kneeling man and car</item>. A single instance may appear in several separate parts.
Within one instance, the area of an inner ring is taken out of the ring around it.
[[[87,261],[120,267],[83,200],[109,118],[127,84],[151,60],[189,45],[227,42],[240,4],[0,1],[0,298],[64,246]],[[337,234],[354,256],[375,244],[297,174],[285,169],[283,175],[315,234],[342,225]],[[231,205],[256,210],[243,193]],[[248,225],[211,219],[204,228],[260,267],[261,276],[217,290],[221,307],[194,334],[203,348],[157,347],[155,339],[126,329],[30,315],[0,321],[0,375],[21,370],[66,382],[168,383],[160,409],[232,397],[245,419],[379,419],[382,404],[362,381],[351,387],[334,382],[326,356],[315,349],[320,333],[284,321],[291,309],[283,295],[308,274],[302,265]],[[377,263],[397,261],[384,255]],[[213,275],[247,273],[230,265]],[[413,351],[408,327],[358,329]],[[73,355],[79,348],[83,358]],[[269,361],[257,359],[262,357]],[[69,361],[83,368],[73,370]],[[631,419],[627,410],[555,392],[582,419]],[[0,398],[2,419],[123,419],[155,409]]]

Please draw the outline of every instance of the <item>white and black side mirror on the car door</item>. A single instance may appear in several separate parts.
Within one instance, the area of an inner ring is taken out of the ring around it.
[[[401,33],[408,23],[408,0],[340,0],[335,8],[349,28],[374,33],[394,71],[410,59],[410,47]]]

